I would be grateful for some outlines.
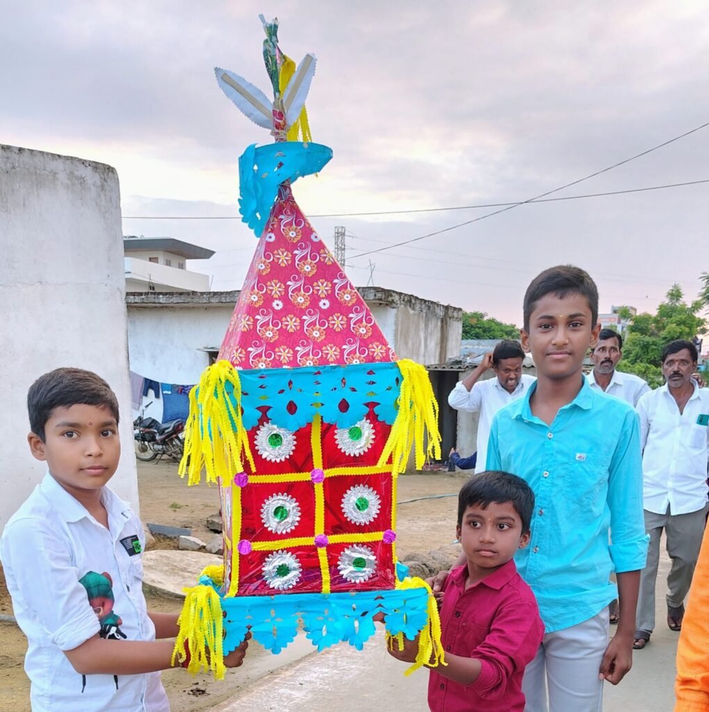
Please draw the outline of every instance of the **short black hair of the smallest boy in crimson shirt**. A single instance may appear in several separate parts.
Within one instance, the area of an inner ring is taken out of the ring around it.
[[[487,509],[490,502],[512,503],[522,520],[522,534],[529,532],[534,510],[534,492],[521,477],[498,470],[473,475],[463,485],[458,494],[458,526],[463,525],[463,514],[468,507],[479,504],[483,509]]]

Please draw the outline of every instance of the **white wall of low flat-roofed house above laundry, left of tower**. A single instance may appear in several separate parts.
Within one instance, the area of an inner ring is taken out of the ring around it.
[[[221,345],[233,305],[208,307],[128,308],[130,370],[145,378],[191,385],[209,365],[209,355],[199,349]],[[145,415],[162,421],[162,398],[152,391],[142,399]]]

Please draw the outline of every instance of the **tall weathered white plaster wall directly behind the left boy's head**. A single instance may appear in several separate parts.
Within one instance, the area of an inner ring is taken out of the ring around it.
[[[111,486],[137,511],[115,169],[0,145],[0,251],[0,529],[46,471],[26,444],[27,389],[60,366],[115,390],[123,455]]]

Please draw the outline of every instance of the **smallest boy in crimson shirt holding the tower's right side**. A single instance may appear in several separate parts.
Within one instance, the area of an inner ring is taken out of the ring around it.
[[[513,556],[530,540],[534,494],[515,475],[484,472],[458,495],[456,534],[466,563],[453,569],[441,607],[446,665],[431,669],[434,712],[522,712],[522,674],[544,634],[537,602]],[[418,644],[389,652],[413,662]]]

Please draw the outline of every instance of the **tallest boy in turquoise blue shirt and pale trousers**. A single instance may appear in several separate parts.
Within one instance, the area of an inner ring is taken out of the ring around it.
[[[582,269],[552,267],[532,281],[521,336],[537,382],[490,429],[488,469],[517,473],[535,493],[530,545],[515,556],[545,623],[522,682],[527,712],[598,712],[603,680],[618,684],[632,662],[647,551],[639,423],[584,378],[597,320],[598,291]],[[609,642],[613,571],[620,624]]]

